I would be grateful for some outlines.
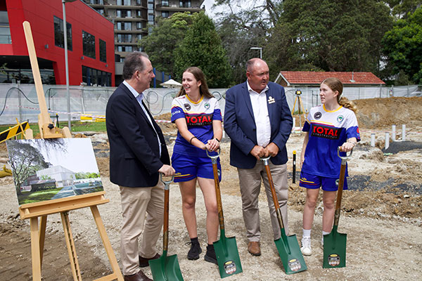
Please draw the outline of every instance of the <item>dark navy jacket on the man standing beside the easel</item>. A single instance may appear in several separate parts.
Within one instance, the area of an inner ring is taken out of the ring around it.
[[[120,84],[108,99],[106,126],[112,183],[126,187],[155,186],[158,183],[158,169],[163,164],[170,164],[162,131],[148,109],[147,112],[154,127],[124,84]],[[161,142],[161,157],[154,128]]]

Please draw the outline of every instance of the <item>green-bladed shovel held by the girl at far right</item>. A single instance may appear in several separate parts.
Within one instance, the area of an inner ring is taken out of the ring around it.
[[[333,230],[328,235],[324,235],[324,263],[323,268],[344,268],[346,266],[346,240],[347,235],[338,233],[338,220],[340,218],[341,197],[343,195],[343,185],[345,183],[347,159],[350,155],[340,156],[340,147],[337,148],[337,155],[341,158],[340,178],[338,179],[337,201],[335,202],[335,214]]]

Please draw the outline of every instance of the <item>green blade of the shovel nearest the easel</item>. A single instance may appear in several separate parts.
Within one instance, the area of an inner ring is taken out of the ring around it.
[[[166,256],[163,254],[158,259],[148,261],[155,281],[183,281],[177,255]]]

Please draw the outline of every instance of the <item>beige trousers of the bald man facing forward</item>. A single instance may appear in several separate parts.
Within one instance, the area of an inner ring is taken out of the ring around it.
[[[283,217],[284,230],[288,234],[287,219],[287,165],[274,165],[269,161],[271,177],[274,182],[274,189],[279,200],[281,216]],[[267,193],[267,201],[269,207],[269,215],[271,217],[271,226],[274,232],[274,240],[281,236],[279,221],[277,220],[276,209],[269,188],[267,172],[262,161],[252,169],[238,169],[239,184],[241,186],[242,195],[242,211],[243,221],[245,221],[246,237],[249,241],[258,242],[261,238],[260,230],[260,209],[258,207],[258,196],[260,195],[261,181],[264,181],[265,192]]]

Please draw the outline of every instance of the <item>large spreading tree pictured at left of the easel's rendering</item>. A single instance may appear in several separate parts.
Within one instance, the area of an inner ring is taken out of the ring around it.
[[[39,150],[29,143],[7,141],[7,149],[16,192],[20,195],[20,186],[27,177],[34,175],[36,171],[48,168],[51,164],[46,162]]]

